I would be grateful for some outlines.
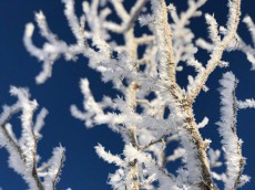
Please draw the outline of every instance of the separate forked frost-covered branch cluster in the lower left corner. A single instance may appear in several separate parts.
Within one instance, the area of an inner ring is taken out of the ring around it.
[[[0,145],[9,152],[9,166],[24,179],[29,189],[54,190],[63,166],[64,148],[58,147],[53,150],[53,156],[48,162],[49,167],[44,170],[43,176],[38,168],[37,146],[47,109],[41,110],[35,125],[33,125],[33,113],[38,104],[35,101],[29,99],[28,89],[12,86],[10,94],[16,96],[18,102],[12,106],[3,106],[0,116]],[[21,112],[21,137],[19,139],[9,124],[11,117],[18,112]]]

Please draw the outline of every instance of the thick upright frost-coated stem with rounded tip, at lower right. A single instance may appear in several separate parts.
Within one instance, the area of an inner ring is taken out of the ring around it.
[[[220,81],[221,88],[221,122],[218,131],[223,137],[222,144],[226,159],[226,182],[225,189],[237,189],[242,183],[242,173],[245,165],[245,158],[242,155],[242,139],[237,136],[237,104],[235,89],[237,80],[234,74],[228,72]],[[232,97],[232,98],[230,98]]]

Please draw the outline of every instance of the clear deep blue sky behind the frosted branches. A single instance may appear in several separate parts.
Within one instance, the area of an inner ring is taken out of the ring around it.
[[[128,0],[126,0],[128,1]],[[78,13],[81,12],[81,0],[76,0]],[[134,2],[134,0],[129,0]],[[185,9],[185,0],[172,1]],[[226,21],[227,0],[208,0],[203,11],[215,14],[221,24]],[[255,20],[255,1],[243,0],[243,15],[249,14]],[[88,68],[86,60],[79,59],[76,63],[67,63],[63,59],[59,60],[53,68],[53,77],[43,85],[35,85],[34,76],[41,71],[41,64],[31,57],[22,43],[22,35],[27,22],[33,21],[34,11],[42,10],[49,21],[49,25],[60,39],[73,42],[73,36],[63,15],[63,4],[60,0],[1,0],[0,1],[0,105],[11,104],[16,99],[9,96],[9,86],[27,86],[30,88],[32,97],[41,106],[49,109],[50,114],[45,119],[45,127],[42,130],[43,138],[39,142],[38,151],[43,160],[51,156],[52,148],[60,142],[67,148],[67,161],[61,175],[58,189],[72,188],[73,190],[106,190],[111,189],[106,184],[108,173],[114,172],[115,168],[98,158],[93,146],[101,142],[106,149],[114,154],[122,152],[122,141],[120,136],[112,134],[105,126],[85,129],[80,120],[71,117],[70,105],[82,105],[82,95],[79,89],[81,77],[91,81],[91,88],[96,99],[103,94],[112,95],[111,84],[100,82],[100,75]],[[192,22],[193,31],[197,35],[206,35],[206,24],[201,18]],[[248,42],[251,36],[241,24],[241,35]],[[35,30],[34,42],[38,45],[43,43]],[[205,62],[208,57],[201,51],[197,57]],[[194,106],[197,120],[204,116],[211,118],[210,125],[202,130],[206,138],[215,140],[213,147],[220,147],[220,138],[215,122],[218,120],[218,80],[223,72],[232,70],[239,85],[237,97],[239,99],[255,97],[255,72],[251,72],[251,64],[247,63],[245,55],[238,52],[224,54],[224,60],[231,62],[228,68],[217,68],[210,78],[207,85],[208,93],[202,93]],[[178,74],[178,82],[185,84],[186,70]],[[16,128],[19,128],[18,119],[12,119]],[[17,130],[20,133],[19,130]],[[247,157],[245,173],[255,178],[255,110],[242,110],[238,115],[238,135],[244,140],[244,156]],[[171,151],[171,150],[170,150]],[[8,155],[3,148],[0,149],[0,187],[3,190],[23,190],[27,188],[22,179],[7,166]],[[255,180],[246,184],[244,190],[255,189]]]

